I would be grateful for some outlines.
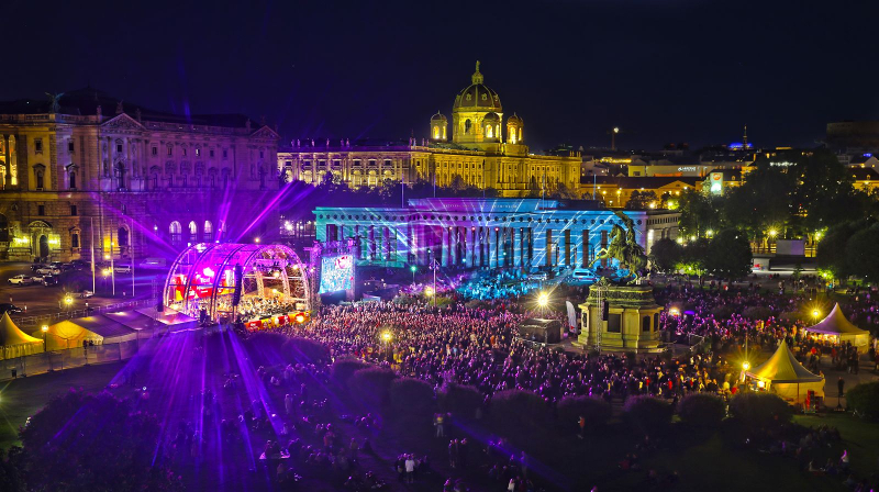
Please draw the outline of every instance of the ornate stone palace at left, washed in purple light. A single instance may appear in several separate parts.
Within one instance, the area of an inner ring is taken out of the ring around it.
[[[89,259],[92,244],[96,259],[143,259],[256,235],[277,142],[242,115],[160,113],[91,88],[0,102],[0,259]]]

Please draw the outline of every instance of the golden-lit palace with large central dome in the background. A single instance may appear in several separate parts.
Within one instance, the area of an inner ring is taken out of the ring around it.
[[[278,153],[278,170],[286,179],[319,183],[331,172],[351,187],[375,187],[386,180],[405,183],[423,180],[448,186],[457,181],[494,188],[502,197],[579,187],[580,156],[528,153],[524,124],[513,114],[503,121],[497,92],[483,83],[479,71],[461,90],[448,119],[436,113],[430,121],[430,139],[388,145],[359,145],[349,141],[293,141]],[[504,132],[505,130],[505,132]],[[448,134],[452,134],[452,141]]]

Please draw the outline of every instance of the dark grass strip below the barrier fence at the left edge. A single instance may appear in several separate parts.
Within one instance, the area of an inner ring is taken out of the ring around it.
[[[101,391],[125,362],[92,365],[0,383],[0,449],[20,446],[19,427],[56,394],[70,388]]]

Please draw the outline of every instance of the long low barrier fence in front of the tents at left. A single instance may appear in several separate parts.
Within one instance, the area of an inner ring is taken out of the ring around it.
[[[148,339],[149,334],[146,334],[141,335],[140,339],[121,342],[119,344],[75,347],[3,359],[0,360],[0,381],[88,366],[90,364],[115,362],[130,359],[137,354],[141,344],[144,344]]]

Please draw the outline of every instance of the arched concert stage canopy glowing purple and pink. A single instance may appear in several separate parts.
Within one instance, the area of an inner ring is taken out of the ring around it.
[[[235,270],[241,267],[241,303],[233,306]],[[307,266],[289,247],[277,244],[205,244],[185,249],[171,264],[163,302],[212,320],[311,309]]]

